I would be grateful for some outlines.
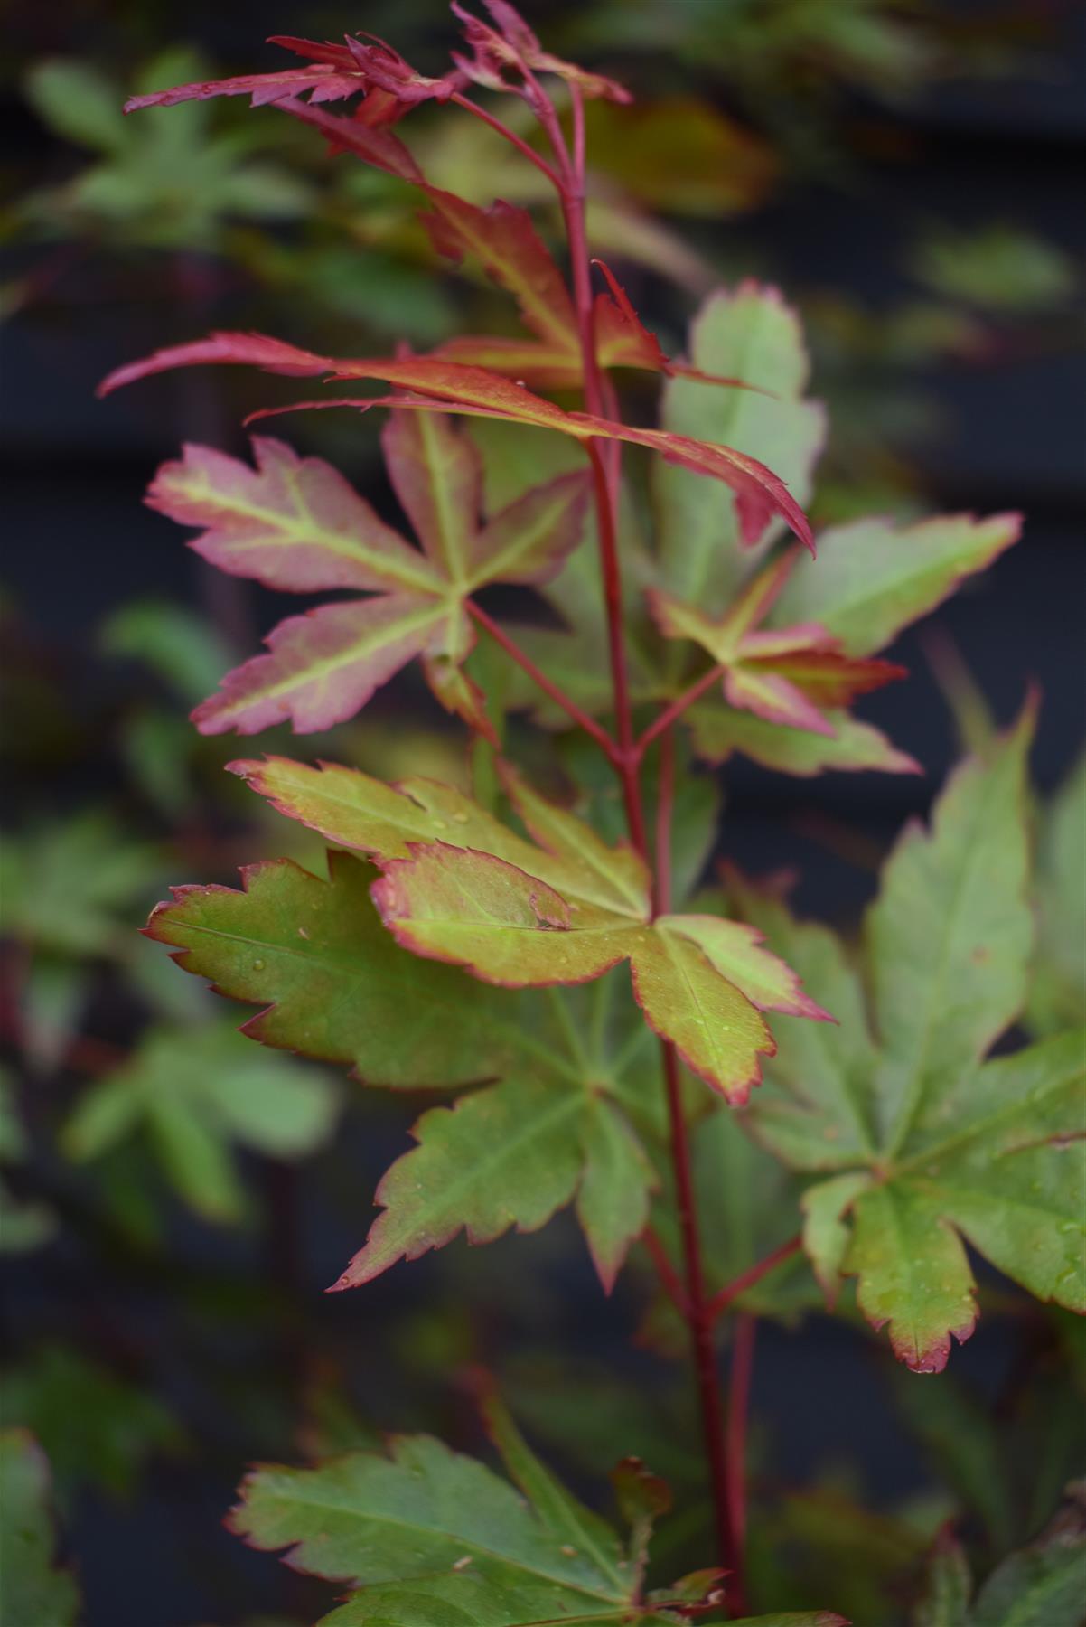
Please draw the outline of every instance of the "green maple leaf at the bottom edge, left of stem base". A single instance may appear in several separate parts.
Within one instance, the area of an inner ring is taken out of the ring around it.
[[[257,1469],[229,1524],[257,1547],[288,1549],[294,1568],[359,1590],[325,1627],[637,1627],[678,1622],[676,1609],[710,1593],[715,1573],[642,1599],[652,1503],[641,1500],[624,1547],[535,1458],[494,1396],[484,1415],[515,1489],[437,1440],[402,1437],[387,1456]],[[758,1622],[845,1627],[828,1612]]]

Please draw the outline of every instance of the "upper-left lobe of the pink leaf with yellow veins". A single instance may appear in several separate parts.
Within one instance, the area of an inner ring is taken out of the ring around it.
[[[441,576],[320,457],[254,436],[255,469],[210,446],[185,446],[163,464],[146,495],[159,514],[206,527],[190,547],[231,576],[314,592],[416,589],[441,592]]]

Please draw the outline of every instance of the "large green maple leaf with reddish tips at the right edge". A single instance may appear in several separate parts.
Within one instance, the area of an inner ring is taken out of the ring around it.
[[[930,833],[894,849],[867,924],[878,1038],[832,934],[736,890],[841,1017],[777,1035],[749,1126],[793,1168],[831,1175],[803,1199],[816,1272],[831,1295],[858,1277],[862,1311],[915,1372],[941,1370],[975,1324],[962,1238],[1039,1298],[1086,1308],[1083,1035],[984,1061],[1027,988],[1031,734],[1027,709],[953,776]]]

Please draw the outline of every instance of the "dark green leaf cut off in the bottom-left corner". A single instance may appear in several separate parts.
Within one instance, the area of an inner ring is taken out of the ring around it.
[[[49,1510],[49,1463],[23,1429],[0,1432],[0,1573],[3,1614],[11,1622],[75,1627],[80,1593],[55,1565]]]

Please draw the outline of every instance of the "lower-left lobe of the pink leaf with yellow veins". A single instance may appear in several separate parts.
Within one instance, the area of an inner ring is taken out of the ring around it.
[[[258,734],[288,718],[296,734],[330,729],[418,656],[444,615],[437,599],[387,594],[288,617],[268,654],[229,672],[193,722],[202,734]]]

